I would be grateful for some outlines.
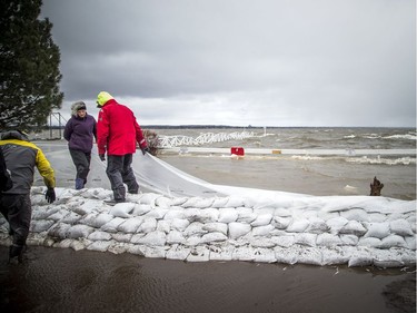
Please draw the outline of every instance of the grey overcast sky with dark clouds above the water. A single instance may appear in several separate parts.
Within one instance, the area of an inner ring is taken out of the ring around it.
[[[141,125],[416,126],[415,0],[43,0],[61,114]]]

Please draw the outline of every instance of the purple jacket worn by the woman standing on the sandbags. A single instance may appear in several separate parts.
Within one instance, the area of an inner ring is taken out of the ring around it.
[[[71,150],[91,153],[93,137],[97,139],[97,123],[91,115],[85,118],[71,116],[63,130],[63,138]]]

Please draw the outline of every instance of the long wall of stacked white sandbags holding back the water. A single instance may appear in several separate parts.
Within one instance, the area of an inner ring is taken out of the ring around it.
[[[133,253],[188,262],[398,267],[416,264],[416,200],[385,197],[169,197],[57,188],[48,204],[33,187],[28,244]],[[106,196],[103,196],[106,195]],[[269,194],[270,195],[270,194]],[[0,244],[10,244],[0,219]]]

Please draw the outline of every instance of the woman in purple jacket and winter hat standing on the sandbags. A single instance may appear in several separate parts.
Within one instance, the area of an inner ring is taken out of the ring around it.
[[[96,119],[87,114],[86,104],[75,102],[71,106],[72,116],[63,130],[63,138],[77,168],[76,189],[82,189],[87,184],[90,172],[91,149],[93,137],[97,140]]]

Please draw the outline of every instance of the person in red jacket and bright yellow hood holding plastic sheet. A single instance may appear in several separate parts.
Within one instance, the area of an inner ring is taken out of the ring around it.
[[[97,96],[97,107],[101,108],[97,121],[97,147],[99,157],[106,160],[106,174],[110,179],[116,203],[126,200],[126,188],[129,194],[137,194],[139,185],[131,167],[136,143],[143,155],[149,151],[142,130],[133,113],[120,105],[107,91]]]

